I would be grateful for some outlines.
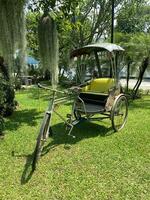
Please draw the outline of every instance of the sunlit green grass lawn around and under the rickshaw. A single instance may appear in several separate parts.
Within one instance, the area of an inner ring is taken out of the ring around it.
[[[0,200],[150,199],[150,96],[130,104],[128,122],[115,134],[109,120],[83,122],[73,139],[54,116],[54,136],[31,173],[48,103],[43,92],[40,96],[37,89],[18,92],[19,107],[6,120],[5,139],[0,140]],[[65,105],[59,111],[65,116],[69,109]]]

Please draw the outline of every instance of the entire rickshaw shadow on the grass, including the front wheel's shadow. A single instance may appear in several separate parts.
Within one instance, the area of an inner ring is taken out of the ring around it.
[[[112,128],[105,127],[99,124],[90,123],[90,122],[82,122],[74,127],[72,134],[75,138],[68,136],[65,133],[65,126],[64,123],[59,123],[52,126],[53,131],[53,140],[47,143],[43,150],[41,156],[47,154],[51,149],[64,144],[65,149],[69,149],[69,145],[74,145],[81,140],[97,137],[97,136],[108,136],[113,133]],[[109,133],[109,134],[108,134]],[[26,184],[31,179],[34,170],[32,170],[32,162],[33,162],[33,154],[26,155],[26,163],[24,166],[24,170],[21,176],[21,184]]]

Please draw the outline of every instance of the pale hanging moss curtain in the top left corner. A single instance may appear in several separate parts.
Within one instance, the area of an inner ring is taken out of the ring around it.
[[[14,71],[14,54],[19,50],[20,63],[25,65],[25,0],[0,0],[0,55]]]

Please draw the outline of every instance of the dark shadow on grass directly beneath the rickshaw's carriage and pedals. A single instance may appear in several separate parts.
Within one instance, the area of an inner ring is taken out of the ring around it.
[[[73,128],[72,135],[74,137],[68,136],[65,133],[64,123],[59,123],[52,126],[52,130],[53,130],[53,140],[46,146],[44,146],[42,151],[42,156],[47,154],[51,149],[61,144],[64,144],[64,148],[68,148],[69,145],[74,145],[84,139],[93,138],[97,136],[104,137],[114,133],[112,127],[105,127],[103,125],[87,121],[79,123],[77,126]]]

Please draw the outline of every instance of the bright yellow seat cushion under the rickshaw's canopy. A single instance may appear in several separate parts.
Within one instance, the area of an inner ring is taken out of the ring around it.
[[[82,92],[96,92],[108,94],[109,89],[113,86],[113,78],[97,78],[91,80],[89,85],[83,87]]]

